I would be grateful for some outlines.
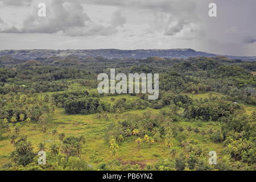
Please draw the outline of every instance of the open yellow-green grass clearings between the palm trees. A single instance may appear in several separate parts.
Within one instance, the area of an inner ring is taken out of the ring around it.
[[[76,85],[75,85],[76,86]],[[75,87],[74,86],[74,87]],[[77,86],[76,89],[84,89],[79,88]],[[51,94],[51,93],[47,93]],[[213,93],[215,96],[220,96],[218,93]],[[189,94],[192,99],[200,99],[200,98],[208,98],[209,94]],[[138,97],[130,96],[128,94],[119,95],[119,96],[105,96],[100,99],[105,102],[113,102],[110,98],[126,98],[126,100],[137,99]],[[162,110],[168,109],[168,106],[164,107]],[[246,113],[251,114],[255,111],[254,106],[245,106]],[[141,114],[145,110],[130,110],[127,111],[133,114]],[[160,110],[150,109],[151,113],[159,113]],[[127,113],[126,112],[126,113]],[[123,113],[125,114],[125,113]],[[47,122],[48,131],[46,134],[46,147],[48,148],[51,144],[56,143],[60,144],[60,141],[57,139],[57,135],[54,138],[51,134],[51,130],[56,129],[58,133],[65,133],[66,136],[80,136],[84,135],[86,139],[86,143],[82,149],[82,159],[86,159],[89,164],[95,166],[101,162],[108,162],[113,159],[111,155],[111,151],[109,149],[109,144],[105,140],[105,130],[108,127],[110,119],[114,121],[118,121],[122,119],[122,115],[119,114],[118,117],[114,117],[114,114],[109,114],[109,119],[97,119],[96,114],[88,114],[88,115],[67,115],[64,113],[64,110],[61,108],[57,108],[55,111],[55,115],[53,115],[52,119],[49,119]],[[21,123],[20,135],[27,135],[28,140],[30,140],[34,146],[34,150],[37,150],[38,144],[40,142],[44,142],[44,134],[40,131],[40,124],[37,123],[38,128],[36,131],[32,129],[32,124],[28,125],[28,123]],[[209,135],[203,135],[199,133],[195,133],[193,131],[188,131],[186,128],[188,126],[198,127],[201,131],[208,130],[210,127],[213,129],[218,129],[220,124],[216,122],[175,122],[173,123],[175,126],[183,127],[183,135],[189,140],[193,140],[195,143],[200,143],[201,146],[206,151],[214,150],[222,155],[221,151],[224,150],[224,146],[222,143],[214,143],[209,139]],[[14,130],[14,126],[12,126],[11,130]],[[13,151],[13,146],[10,143],[10,139],[7,137],[8,134],[3,134],[3,139],[0,140],[0,164],[3,166],[10,162],[8,158],[11,151]],[[174,144],[175,145],[175,144]],[[123,164],[141,164],[141,166],[145,166],[146,164],[156,163],[158,159],[167,159],[170,158],[170,154],[168,154],[167,148],[164,146],[164,140],[160,140],[152,144],[151,148],[148,147],[148,144],[142,143],[141,150],[138,150],[137,143],[135,142],[135,138],[130,138],[129,140],[125,140],[119,146],[116,158],[121,161]]]

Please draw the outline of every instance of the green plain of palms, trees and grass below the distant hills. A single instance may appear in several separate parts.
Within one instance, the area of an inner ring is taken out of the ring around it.
[[[159,73],[158,100],[99,94],[110,68]],[[225,56],[0,57],[0,169],[254,171],[255,73]]]

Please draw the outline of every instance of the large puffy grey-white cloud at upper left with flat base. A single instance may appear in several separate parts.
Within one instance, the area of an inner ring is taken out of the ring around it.
[[[112,23],[103,26],[91,20],[84,13],[82,5],[78,1],[54,0],[47,5],[46,17],[37,15],[38,8],[22,23],[22,28],[15,26],[1,28],[1,32],[26,33],[26,34],[54,34],[61,33],[69,36],[113,35],[123,26],[126,19],[121,16],[121,11],[113,14]]]

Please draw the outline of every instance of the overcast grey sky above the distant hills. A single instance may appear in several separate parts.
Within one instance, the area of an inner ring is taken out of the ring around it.
[[[212,2],[217,17],[208,15]],[[0,0],[0,49],[192,48],[256,56],[255,7],[255,0]]]

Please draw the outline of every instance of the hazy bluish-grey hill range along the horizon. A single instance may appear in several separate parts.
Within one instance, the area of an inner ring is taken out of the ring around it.
[[[19,60],[43,60],[52,57],[53,61],[63,59],[67,56],[76,56],[80,58],[106,57],[108,59],[135,58],[143,59],[151,56],[164,58],[186,59],[188,57],[217,56],[213,53],[195,51],[193,49],[137,49],[137,50],[120,50],[120,49],[77,49],[77,50],[52,50],[52,49],[32,49],[32,50],[2,50],[0,56],[8,55]],[[241,59],[247,61],[255,61],[256,56],[228,56],[229,59]],[[5,57],[5,59],[8,57]],[[48,61],[52,61],[48,60]],[[1,61],[1,60],[0,60]],[[5,60],[2,60],[5,61]],[[15,61],[15,60],[13,60]],[[80,64],[80,63],[77,63]]]

